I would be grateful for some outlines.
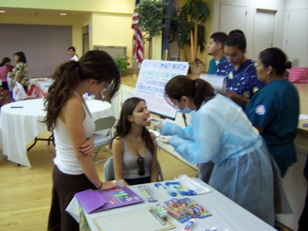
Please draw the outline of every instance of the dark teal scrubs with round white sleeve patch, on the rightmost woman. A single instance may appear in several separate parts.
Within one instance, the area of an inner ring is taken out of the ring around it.
[[[296,162],[294,138],[299,115],[296,87],[289,80],[274,80],[256,93],[245,108],[254,126],[263,128],[267,148],[281,168]]]

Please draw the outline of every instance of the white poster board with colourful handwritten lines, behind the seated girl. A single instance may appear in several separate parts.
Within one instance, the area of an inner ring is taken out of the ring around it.
[[[134,96],[146,100],[151,113],[175,120],[177,111],[164,99],[164,87],[174,76],[187,75],[188,68],[188,62],[142,61]]]

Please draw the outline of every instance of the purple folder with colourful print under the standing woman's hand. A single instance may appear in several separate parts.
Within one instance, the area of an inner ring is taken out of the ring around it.
[[[127,187],[113,188],[104,191],[91,189],[75,194],[80,205],[87,213],[100,212],[111,208],[129,206],[144,200]]]

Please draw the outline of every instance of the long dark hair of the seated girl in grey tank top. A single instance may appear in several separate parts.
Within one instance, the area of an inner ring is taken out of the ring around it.
[[[145,102],[142,98],[132,97],[124,101],[120,113],[120,120],[118,121],[118,124],[115,126],[115,132],[113,135],[113,139],[110,142],[110,148],[112,150],[112,142],[115,138],[123,138],[125,137],[129,131],[131,130],[131,122],[129,121],[129,115],[133,115],[133,110],[137,106],[139,102]],[[146,144],[146,147],[148,150],[152,153],[154,153],[155,150],[155,144],[152,140],[152,137],[150,135],[150,132],[146,127],[144,126],[142,128],[142,140],[144,140],[144,143]]]

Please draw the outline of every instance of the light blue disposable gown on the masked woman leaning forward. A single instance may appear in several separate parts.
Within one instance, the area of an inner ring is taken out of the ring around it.
[[[217,94],[191,113],[186,128],[166,122],[162,135],[192,164],[215,166],[210,186],[274,225],[274,177],[270,155],[242,109]]]

